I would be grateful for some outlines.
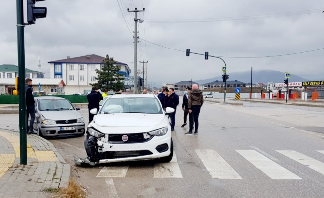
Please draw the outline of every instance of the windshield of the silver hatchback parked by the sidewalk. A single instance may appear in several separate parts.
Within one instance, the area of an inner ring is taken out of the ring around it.
[[[74,110],[67,99],[42,99],[38,102],[38,108],[40,111]]]

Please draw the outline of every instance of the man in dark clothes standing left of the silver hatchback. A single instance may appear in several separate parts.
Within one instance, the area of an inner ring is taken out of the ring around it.
[[[25,92],[26,92],[26,131],[29,134],[37,134],[33,130],[34,122],[35,122],[35,100],[33,96],[33,90],[31,88],[32,81],[30,78],[26,79],[26,87],[25,87]],[[30,115],[30,124],[28,126],[28,118]]]

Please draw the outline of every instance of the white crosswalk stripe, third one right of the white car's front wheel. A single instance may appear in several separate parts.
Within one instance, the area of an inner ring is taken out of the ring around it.
[[[236,150],[271,179],[302,179],[255,150]]]

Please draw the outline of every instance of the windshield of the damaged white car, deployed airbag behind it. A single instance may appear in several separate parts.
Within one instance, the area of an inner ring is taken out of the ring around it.
[[[162,114],[158,99],[130,97],[110,98],[101,108],[101,113],[148,113]]]

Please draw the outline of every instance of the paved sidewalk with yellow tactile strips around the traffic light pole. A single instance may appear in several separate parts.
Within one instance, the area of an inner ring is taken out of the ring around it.
[[[52,143],[27,135],[27,165],[20,165],[19,133],[0,129],[0,198],[48,198],[44,190],[66,188],[71,166]]]

